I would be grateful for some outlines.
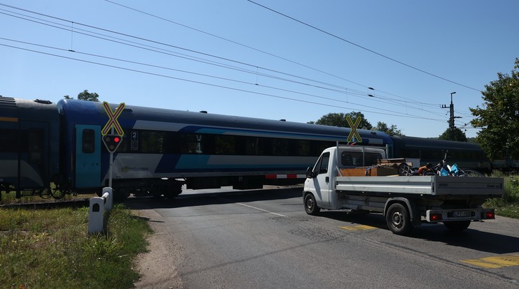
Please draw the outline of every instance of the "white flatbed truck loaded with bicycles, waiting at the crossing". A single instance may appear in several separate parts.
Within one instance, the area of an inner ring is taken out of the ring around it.
[[[352,209],[382,213],[397,235],[406,235],[423,221],[442,222],[449,230],[461,231],[471,221],[495,218],[494,209],[481,205],[488,198],[502,197],[502,178],[343,177],[343,169],[360,166],[368,170],[377,159],[385,158],[385,150],[377,147],[338,145],[325,149],[307,171],[303,189],[306,212],[317,215],[321,209]]]

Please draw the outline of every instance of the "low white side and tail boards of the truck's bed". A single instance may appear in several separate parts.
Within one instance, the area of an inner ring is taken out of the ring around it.
[[[337,177],[336,191],[488,197],[500,197],[504,193],[502,178],[441,176]]]

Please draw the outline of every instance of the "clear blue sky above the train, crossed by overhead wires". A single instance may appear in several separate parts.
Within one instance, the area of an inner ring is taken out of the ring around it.
[[[0,95],[57,102],[88,89],[297,122],[360,111],[437,137],[451,92],[463,126],[519,57],[516,0],[254,1],[0,0]]]

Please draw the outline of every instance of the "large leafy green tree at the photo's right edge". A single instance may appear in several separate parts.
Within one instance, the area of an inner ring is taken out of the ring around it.
[[[483,105],[470,108],[476,117],[472,126],[481,128],[476,142],[490,159],[519,158],[519,59],[511,75],[497,73],[497,80],[485,85]]]

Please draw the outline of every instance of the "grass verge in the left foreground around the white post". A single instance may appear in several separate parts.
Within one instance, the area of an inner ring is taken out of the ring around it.
[[[88,235],[88,215],[88,207],[0,209],[0,287],[132,288],[151,229],[116,205],[107,235]]]

